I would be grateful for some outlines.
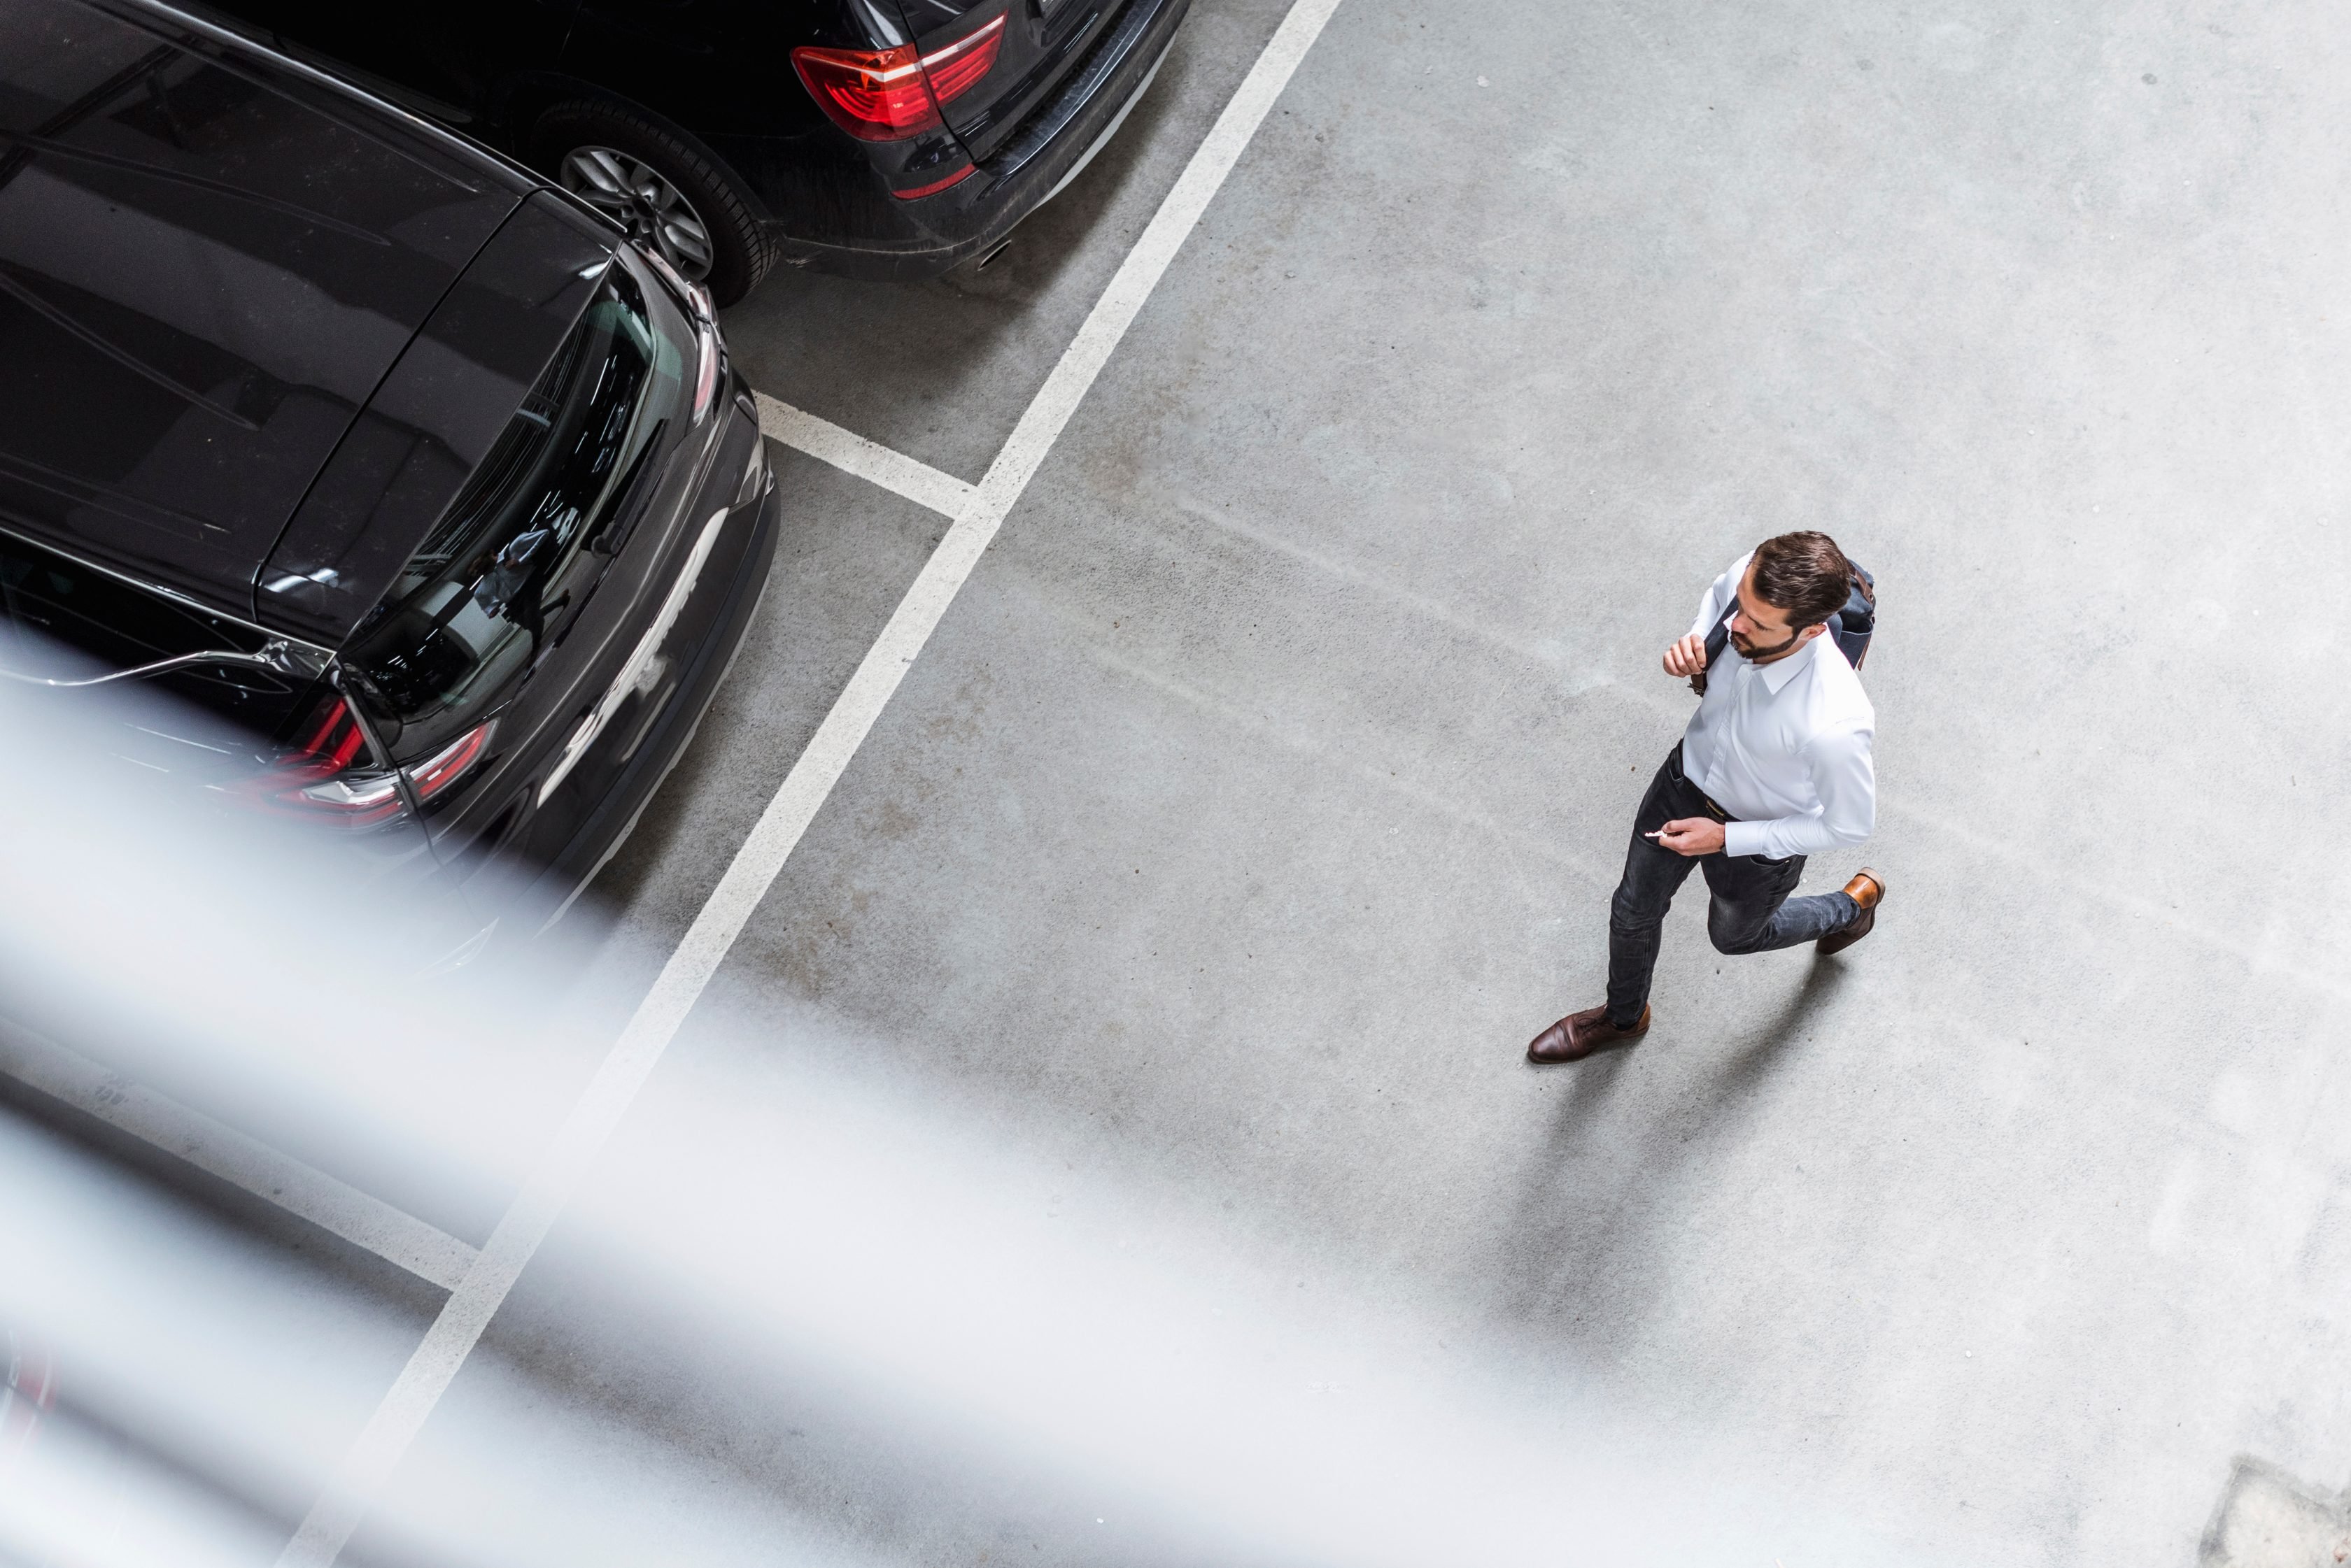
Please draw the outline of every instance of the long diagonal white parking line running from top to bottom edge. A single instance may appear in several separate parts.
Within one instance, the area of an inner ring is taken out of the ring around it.
[[[849,677],[849,686],[832,703],[832,712],[825,715],[809,750],[792,764],[743,849],[726,865],[726,875],[719,877],[677,952],[663,964],[654,990],[637,1004],[555,1143],[522,1185],[513,1208],[498,1220],[482,1255],[449,1293],[449,1302],[426,1331],[423,1345],[409,1356],[383,1403],[376,1406],[360,1439],[336,1467],[324,1495],[310,1507],[294,1540],[287,1542],[277,1568],[327,1568],[341,1554],[369,1500],[390,1479],[393,1467],[400,1465],[433,1406],[440,1403],[442,1392],[465,1363],[522,1267],[588,1175],[604,1138],[618,1126],[654,1063],[661,1060],[694,1001],[710,985],[710,976],[717,973],[759,898],[776,882],[785,858],[799,844],[799,835],[806,832],[865,733],[882,717],[882,708],[898,691],[907,665],[922,654],[957,590],[978,567],[987,541],[997,536],[997,527],[1027,489],[1037,465],[1053,449],[1053,440],[1070,423],[1093,378],[1110,362],[1110,353],[1126,336],[1136,313],[1143,310],[1143,301],[1150,299],[1152,287],[1208,209],[1225,176],[1232,174],[1248,139],[1338,7],[1340,0],[1293,0],[1248,78],[1225,103],[1225,113],[1218,115],[1206,141],[1192,153],[1176,188],[1159,202],[1143,237],[1119,263],[1119,273],[1086,315],[1086,324],[1077,329],[1077,339],[1063,350],[1053,374],[1020,414],[1020,423],[997,461],[987,465],[987,477],[957,510],[955,524],[924,562],[915,585],[907,588],[856,675]],[[842,430],[842,435],[849,433]],[[875,447],[875,451],[884,449]]]

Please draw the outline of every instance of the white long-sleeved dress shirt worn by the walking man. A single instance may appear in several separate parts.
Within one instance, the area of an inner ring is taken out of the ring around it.
[[[1730,562],[1697,602],[1695,637],[1723,618],[1751,555]],[[1723,853],[1813,856],[1860,844],[1878,820],[1876,724],[1862,677],[1831,635],[1763,665],[1723,644],[1681,736],[1681,771],[1740,818],[1723,827]]]

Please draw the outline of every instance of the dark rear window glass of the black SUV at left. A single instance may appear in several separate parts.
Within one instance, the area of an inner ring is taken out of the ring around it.
[[[656,292],[656,299],[658,292]],[[451,743],[529,670],[654,477],[682,324],[614,263],[538,386],[346,649],[402,762]]]

